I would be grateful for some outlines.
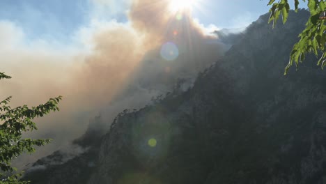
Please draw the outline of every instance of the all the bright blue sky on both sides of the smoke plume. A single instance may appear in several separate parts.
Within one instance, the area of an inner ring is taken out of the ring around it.
[[[107,1],[95,6],[92,1]],[[69,42],[72,35],[91,19],[125,22],[128,3],[123,0],[1,0],[0,21],[13,22],[29,39]],[[127,1],[127,0],[124,0]],[[201,0],[194,8],[196,19],[208,26],[239,28],[268,12],[267,0]]]

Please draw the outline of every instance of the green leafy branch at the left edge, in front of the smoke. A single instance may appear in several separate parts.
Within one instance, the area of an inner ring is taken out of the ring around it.
[[[10,79],[11,77],[0,72],[0,79]],[[45,104],[36,107],[27,107],[27,105],[12,108],[8,104],[11,96],[0,102],[0,183],[26,183],[18,181],[20,174],[8,174],[16,171],[11,166],[11,160],[17,158],[22,153],[33,153],[34,146],[44,146],[50,139],[22,139],[22,133],[38,130],[34,118],[45,116],[49,112],[59,111],[57,106],[61,96],[50,98]]]

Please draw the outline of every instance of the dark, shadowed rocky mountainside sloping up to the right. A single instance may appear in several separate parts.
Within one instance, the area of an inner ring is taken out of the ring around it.
[[[326,183],[326,73],[308,56],[283,75],[308,16],[262,15],[192,89],[118,116],[80,183]]]

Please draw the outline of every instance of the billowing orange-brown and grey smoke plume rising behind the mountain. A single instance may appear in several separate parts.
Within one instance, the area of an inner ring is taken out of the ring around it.
[[[79,137],[98,112],[109,124],[123,109],[137,109],[171,91],[178,79],[191,86],[196,74],[226,51],[192,20],[190,10],[171,13],[169,0],[133,0],[128,20],[80,38],[92,45],[87,51],[42,42],[21,46],[23,31],[0,22],[6,27],[0,29],[0,38],[6,38],[0,43],[0,69],[13,77],[1,81],[0,97],[13,95],[15,106],[63,95],[61,111],[38,119],[39,130],[26,135],[54,139],[33,159]]]

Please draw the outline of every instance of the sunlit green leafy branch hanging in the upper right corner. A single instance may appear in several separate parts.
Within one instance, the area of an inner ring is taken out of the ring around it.
[[[288,20],[288,12],[290,6],[288,0],[280,0],[278,3],[274,3],[275,0],[270,0],[267,6],[272,6],[270,8],[270,19],[269,23],[273,22],[273,27],[279,16],[281,15],[283,23],[285,24]],[[302,0],[306,2],[306,0]],[[326,66],[326,26],[325,20],[320,19],[320,14],[326,8],[326,3],[318,0],[307,0],[308,8],[310,12],[309,20],[306,22],[306,28],[300,33],[300,40],[293,46],[292,52],[290,52],[290,59],[288,65],[285,68],[284,75],[287,74],[288,69],[295,63],[296,68],[298,68],[299,63],[305,59],[307,53],[313,53],[316,57],[319,57],[320,52],[322,55],[318,59],[317,65],[322,69]],[[295,12],[298,10],[299,0],[294,0]]]

